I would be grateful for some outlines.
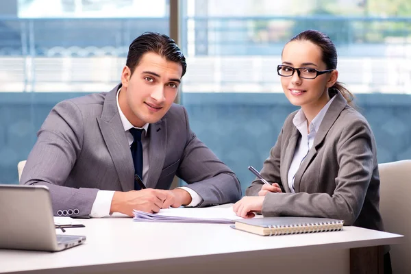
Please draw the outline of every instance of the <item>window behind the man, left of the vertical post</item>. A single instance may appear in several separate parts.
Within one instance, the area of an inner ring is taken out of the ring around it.
[[[56,103],[119,84],[129,44],[147,30],[169,33],[169,1],[0,3],[0,183],[18,183]]]

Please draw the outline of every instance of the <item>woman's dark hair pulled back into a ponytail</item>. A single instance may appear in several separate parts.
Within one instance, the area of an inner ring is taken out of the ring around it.
[[[327,69],[337,69],[336,46],[326,34],[323,34],[323,32],[309,29],[292,37],[290,42],[292,41],[310,41],[314,45],[317,45],[323,53],[321,59],[327,66]],[[354,96],[349,90],[347,90],[347,88],[343,86],[343,84],[336,82],[336,84],[334,84],[331,88],[341,92],[341,95],[343,95],[349,105],[353,106],[353,103],[351,102],[353,101]]]

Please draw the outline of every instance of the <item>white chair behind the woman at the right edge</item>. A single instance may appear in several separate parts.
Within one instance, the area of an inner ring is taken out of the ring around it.
[[[391,245],[393,273],[411,273],[411,160],[379,164],[379,210],[386,232],[404,235]]]

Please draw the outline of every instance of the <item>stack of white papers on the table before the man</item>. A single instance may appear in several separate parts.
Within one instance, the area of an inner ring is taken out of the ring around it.
[[[242,219],[233,208],[166,208],[158,213],[134,210],[136,222],[163,223],[235,223]]]

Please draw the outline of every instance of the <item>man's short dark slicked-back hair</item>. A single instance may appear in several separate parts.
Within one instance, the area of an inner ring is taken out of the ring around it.
[[[182,65],[182,77],[186,73],[187,63],[181,49],[177,46],[173,39],[165,34],[158,34],[156,32],[145,32],[138,36],[129,46],[127,54],[127,61],[125,65],[129,67],[131,73],[138,66],[142,55],[147,52],[157,53],[166,58],[167,61],[176,62]]]

